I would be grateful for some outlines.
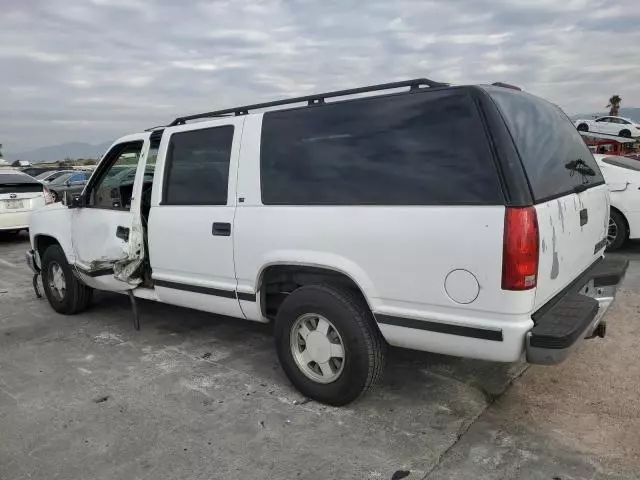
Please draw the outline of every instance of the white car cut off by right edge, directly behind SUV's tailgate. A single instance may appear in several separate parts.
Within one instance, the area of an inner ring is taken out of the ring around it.
[[[611,155],[594,155],[611,198],[607,242],[609,250],[629,239],[640,238],[640,161]]]

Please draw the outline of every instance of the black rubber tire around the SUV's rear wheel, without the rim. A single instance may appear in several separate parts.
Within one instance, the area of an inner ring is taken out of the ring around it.
[[[325,315],[345,343],[348,363],[342,375],[329,384],[307,378],[291,355],[291,327],[302,313],[309,313],[308,307],[313,313]],[[333,310],[334,315],[328,315],[327,310]],[[328,405],[342,406],[357,400],[375,386],[384,371],[387,342],[366,302],[348,288],[318,284],[294,290],[278,309],[275,341],[280,364],[294,386],[303,395]]]

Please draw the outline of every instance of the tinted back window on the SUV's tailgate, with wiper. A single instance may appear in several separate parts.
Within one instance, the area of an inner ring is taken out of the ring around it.
[[[511,132],[536,202],[566,195],[581,184],[604,183],[591,151],[560,108],[523,92],[487,90]],[[595,175],[568,169],[575,160]]]

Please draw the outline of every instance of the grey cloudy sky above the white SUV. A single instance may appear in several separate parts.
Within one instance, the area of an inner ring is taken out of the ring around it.
[[[0,0],[5,151],[414,77],[640,107],[639,0]]]

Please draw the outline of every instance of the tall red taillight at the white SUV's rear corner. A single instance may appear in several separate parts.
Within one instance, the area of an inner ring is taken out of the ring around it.
[[[538,282],[538,217],[534,207],[508,207],[504,215],[502,289],[529,290]]]

